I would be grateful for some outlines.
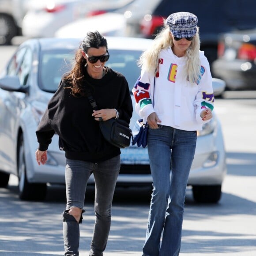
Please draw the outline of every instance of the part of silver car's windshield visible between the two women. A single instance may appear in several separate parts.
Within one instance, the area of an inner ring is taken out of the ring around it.
[[[141,54],[142,51],[110,49],[110,57],[105,65],[122,73],[128,82],[130,90],[132,90],[132,87],[140,75],[140,68],[136,62]]]

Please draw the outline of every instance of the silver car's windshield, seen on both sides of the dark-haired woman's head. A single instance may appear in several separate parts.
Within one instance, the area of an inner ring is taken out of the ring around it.
[[[122,73],[128,81],[130,90],[140,75],[136,61],[142,51],[109,49],[109,60],[106,66]],[[39,68],[39,87],[41,90],[55,92],[61,76],[72,69],[74,52],[63,50],[59,52],[43,52]]]

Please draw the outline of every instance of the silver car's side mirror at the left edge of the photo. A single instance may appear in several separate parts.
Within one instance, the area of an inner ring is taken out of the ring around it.
[[[29,87],[21,85],[17,76],[6,75],[0,78],[0,88],[8,91],[27,93]]]

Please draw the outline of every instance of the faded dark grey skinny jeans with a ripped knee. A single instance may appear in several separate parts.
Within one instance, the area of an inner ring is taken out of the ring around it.
[[[120,155],[98,163],[67,159],[65,173],[67,206],[63,222],[64,255],[79,255],[79,224],[74,221],[72,215],[68,215],[68,209],[71,207],[83,209],[87,182],[92,173],[95,181],[96,219],[89,255],[103,255],[109,237],[112,201],[119,171]]]

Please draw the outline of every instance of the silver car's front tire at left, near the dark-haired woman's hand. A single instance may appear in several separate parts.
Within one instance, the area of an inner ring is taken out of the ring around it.
[[[27,180],[23,136],[19,138],[18,174],[19,198],[21,200],[42,201],[45,199],[47,185],[45,183],[30,183]]]

